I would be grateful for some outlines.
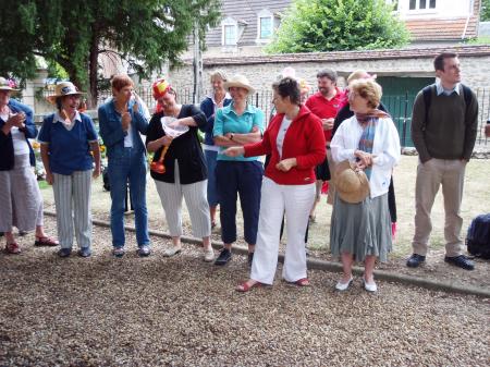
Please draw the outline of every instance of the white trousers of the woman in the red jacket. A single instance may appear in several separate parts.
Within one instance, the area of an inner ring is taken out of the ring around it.
[[[287,243],[282,278],[295,282],[306,278],[305,232],[315,200],[315,183],[278,185],[264,178],[260,216],[250,278],[272,284],[278,266],[279,234],[285,211]]]

